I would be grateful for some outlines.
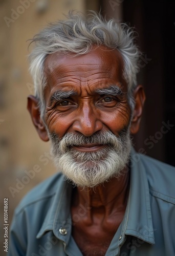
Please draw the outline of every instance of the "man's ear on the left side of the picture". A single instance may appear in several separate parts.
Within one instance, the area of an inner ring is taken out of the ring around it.
[[[40,118],[38,100],[33,95],[28,96],[27,108],[28,108],[28,111],[30,112],[32,122],[35,125],[35,128],[39,134],[39,137],[43,141],[48,141],[49,137],[46,131],[45,124]]]

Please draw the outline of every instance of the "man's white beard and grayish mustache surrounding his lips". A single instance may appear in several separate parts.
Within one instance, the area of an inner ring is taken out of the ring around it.
[[[67,133],[61,140],[49,134],[51,153],[57,168],[76,186],[95,187],[119,177],[129,160],[131,139],[129,127],[117,137],[112,132],[99,132],[91,137]],[[106,144],[96,152],[79,152],[72,146],[85,143]]]

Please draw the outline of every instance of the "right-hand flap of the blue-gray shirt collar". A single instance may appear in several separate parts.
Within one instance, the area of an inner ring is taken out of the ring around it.
[[[130,157],[130,191],[123,224],[125,234],[155,244],[146,169],[134,148]]]

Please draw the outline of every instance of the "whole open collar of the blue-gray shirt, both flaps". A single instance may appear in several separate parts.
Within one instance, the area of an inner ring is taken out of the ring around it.
[[[135,236],[150,244],[155,244],[146,170],[140,155],[133,148],[130,160],[130,191],[122,221],[122,233]],[[40,238],[47,231],[52,230],[58,239],[68,243],[72,230],[70,203],[73,188],[63,175],[61,179],[62,181],[59,183],[60,185],[57,188],[55,197],[52,199],[45,221],[36,238]],[[59,231],[61,228],[66,229],[66,236]],[[120,243],[122,243],[122,240]]]

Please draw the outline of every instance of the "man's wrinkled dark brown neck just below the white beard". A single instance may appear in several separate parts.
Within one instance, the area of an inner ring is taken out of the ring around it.
[[[77,187],[73,195],[72,206],[85,206],[89,212],[89,217],[96,213],[107,217],[113,214],[114,211],[125,210],[128,191],[129,172],[123,170],[120,177],[114,177],[95,188],[85,187],[82,189]]]

